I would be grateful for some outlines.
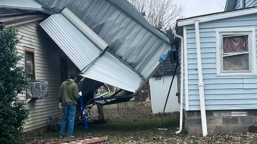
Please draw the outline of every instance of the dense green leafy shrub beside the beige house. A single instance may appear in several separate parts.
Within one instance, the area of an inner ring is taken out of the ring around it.
[[[0,143],[19,140],[28,117],[25,101],[17,98],[26,86],[24,68],[17,63],[23,58],[16,50],[20,43],[17,30],[0,30]]]

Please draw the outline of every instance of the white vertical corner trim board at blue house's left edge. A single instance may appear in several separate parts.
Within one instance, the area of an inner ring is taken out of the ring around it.
[[[183,38],[184,38],[184,70],[185,70],[185,110],[189,110],[189,99],[188,99],[188,50],[187,50],[187,26],[183,27]]]

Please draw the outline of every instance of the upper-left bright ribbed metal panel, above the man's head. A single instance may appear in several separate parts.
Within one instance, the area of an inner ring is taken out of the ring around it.
[[[101,53],[98,46],[62,14],[49,16],[40,25],[80,70]]]

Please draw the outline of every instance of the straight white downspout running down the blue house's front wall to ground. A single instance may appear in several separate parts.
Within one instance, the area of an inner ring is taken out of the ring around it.
[[[195,37],[196,37],[196,53],[197,53],[197,66],[198,66],[198,78],[199,78],[199,99],[200,99],[200,110],[202,119],[202,135],[207,135],[207,124],[205,114],[205,99],[204,99],[204,83],[202,81],[202,60],[201,60],[201,47],[200,47],[200,33],[199,33],[199,20],[195,20]]]

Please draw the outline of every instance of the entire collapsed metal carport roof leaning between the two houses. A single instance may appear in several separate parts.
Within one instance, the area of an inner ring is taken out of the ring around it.
[[[40,25],[81,70],[80,75],[134,95],[170,47],[126,0],[3,0],[2,5],[53,14]]]

